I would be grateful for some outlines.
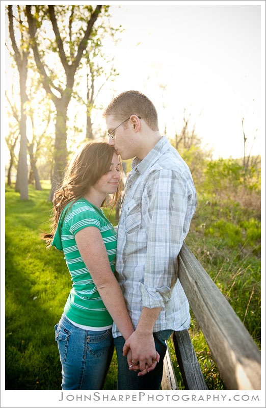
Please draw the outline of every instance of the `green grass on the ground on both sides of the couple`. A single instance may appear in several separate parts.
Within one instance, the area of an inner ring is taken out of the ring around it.
[[[30,187],[25,201],[14,188],[6,188],[6,390],[61,390],[54,325],[61,317],[71,281],[63,254],[55,248],[47,250],[39,239],[40,230],[48,231],[52,208],[47,202],[49,185],[43,182],[42,186],[42,191]],[[231,228],[225,225],[234,221],[225,210],[221,215],[218,207],[200,203],[186,242],[260,347],[258,215],[235,209],[235,226],[241,234],[236,234],[237,243],[232,245]],[[223,222],[217,223],[218,219]],[[115,224],[115,212],[111,221]],[[193,315],[190,334],[208,388],[223,390]],[[169,345],[182,390],[171,342]],[[116,369],[114,353],[105,390],[116,389]]]

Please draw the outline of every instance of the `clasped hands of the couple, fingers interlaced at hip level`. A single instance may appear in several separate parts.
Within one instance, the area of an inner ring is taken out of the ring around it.
[[[159,362],[160,355],[155,349],[154,338],[151,335],[140,336],[134,331],[126,340],[123,355],[127,357],[130,371],[138,372],[138,376],[154,370]]]

